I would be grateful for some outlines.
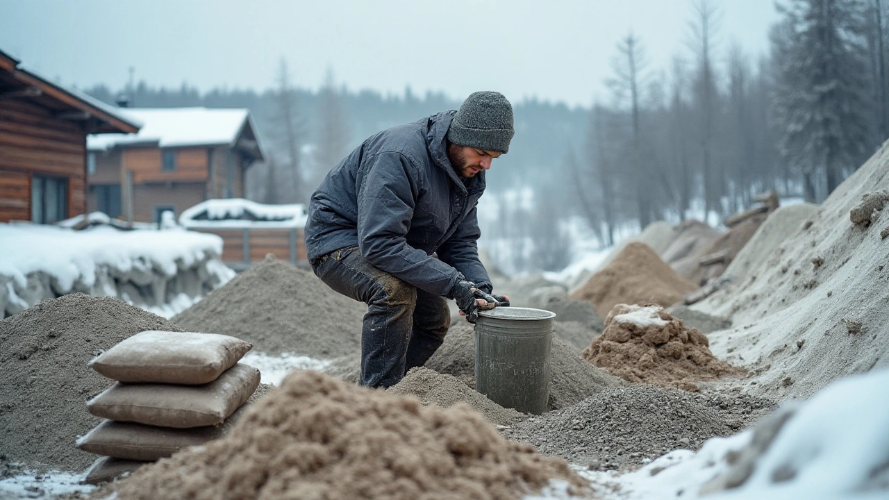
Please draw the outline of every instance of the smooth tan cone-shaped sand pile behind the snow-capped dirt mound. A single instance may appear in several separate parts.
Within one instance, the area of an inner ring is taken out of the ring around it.
[[[630,243],[571,298],[592,302],[599,316],[604,317],[619,303],[656,302],[667,307],[696,288],[649,246]]]

